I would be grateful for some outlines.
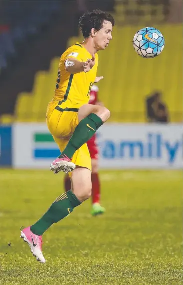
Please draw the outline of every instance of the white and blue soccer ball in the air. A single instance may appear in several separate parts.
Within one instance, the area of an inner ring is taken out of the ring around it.
[[[133,46],[137,54],[145,58],[153,58],[164,49],[164,37],[153,27],[142,28],[133,38]]]

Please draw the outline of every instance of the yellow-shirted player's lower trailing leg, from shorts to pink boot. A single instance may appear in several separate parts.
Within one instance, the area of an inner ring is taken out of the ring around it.
[[[56,139],[56,141],[60,150],[67,144],[67,140]],[[72,172],[73,191],[69,190],[67,193],[59,195],[47,212],[35,224],[21,231],[21,237],[29,244],[31,252],[37,257],[37,260],[42,263],[45,263],[45,258],[42,254],[43,233],[51,225],[69,215],[75,207],[79,206],[91,195],[91,159],[86,144],[76,151],[73,160],[77,167],[75,172]]]

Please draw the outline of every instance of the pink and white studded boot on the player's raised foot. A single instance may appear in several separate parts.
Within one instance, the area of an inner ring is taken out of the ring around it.
[[[63,158],[57,157],[50,165],[50,170],[54,172],[54,174],[58,173],[59,171],[63,172],[71,172],[73,171],[76,166],[73,162],[71,162],[72,159],[68,158],[66,155]]]

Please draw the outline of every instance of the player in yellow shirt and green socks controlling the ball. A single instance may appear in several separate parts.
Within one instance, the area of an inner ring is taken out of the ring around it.
[[[21,231],[37,260],[45,263],[42,235],[54,223],[70,214],[91,196],[91,158],[86,142],[110,117],[104,106],[88,104],[97,77],[98,54],[112,39],[113,17],[100,10],[86,12],[79,19],[83,43],[69,47],[60,58],[55,95],[49,103],[46,122],[61,155],[50,169],[69,172],[72,189],[57,197],[47,212]],[[71,172],[72,171],[72,172]]]

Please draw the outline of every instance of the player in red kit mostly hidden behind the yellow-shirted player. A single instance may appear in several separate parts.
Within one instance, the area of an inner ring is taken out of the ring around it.
[[[102,105],[102,103],[98,101],[98,87],[96,85],[93,85],[91,88],[89,104]],[[93,216],[96,216],[105,212],[105,208],[100,205],[100,181],[98,174],[98,147],[96,144],[96,134],[94,134],[93,137],[89,141],[87,141],[87,146],[90,152],[91,163],[92,163],[91,214]],[[65,175],[64,186],[65,186],[65,191],[69,191],[71,189],[71,182],[68,174]]]

